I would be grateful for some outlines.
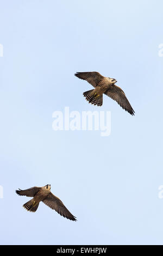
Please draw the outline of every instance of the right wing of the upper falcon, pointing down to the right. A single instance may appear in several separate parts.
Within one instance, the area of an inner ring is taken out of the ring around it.
[[[131,107],[125,93],[118,86],[111,86],[106,92],[106,95],[111,97],[111,99],[117,101],[117,103],[126,111],[128,111],[131,115],[134,115],[135,111]]]

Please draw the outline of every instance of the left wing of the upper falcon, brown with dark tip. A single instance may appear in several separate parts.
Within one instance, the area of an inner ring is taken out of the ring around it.
[[[99,72],[77,72],[74,74],[80,79],[86,80],[93,87],[96,87],[97,84],[104,78]]]

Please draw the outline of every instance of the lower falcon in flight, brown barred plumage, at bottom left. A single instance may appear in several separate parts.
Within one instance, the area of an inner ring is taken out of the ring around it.
[[[67,210],[61,200],[51,193],[51,185],[46,185],[44,187],[30,187],[27,190],[20,190],[20,188],[18,189],[19,190],[16,190],[16,193],[19,196],[33,197],[33,199],[29,200],[23,205],[27,211],[35,212],[39,206],[39,203],[42,201],[51,209],[57,211],[61,216],[64,216],[71,221],[77,221],[76,217],[74,217],[71,212]]]

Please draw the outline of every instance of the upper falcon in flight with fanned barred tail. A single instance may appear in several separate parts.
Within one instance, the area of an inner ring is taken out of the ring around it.
[[[92,84],[95,89],[88,90],[83,93],[86,100],[97,106],[103,105],[103,93],[112,100],[117,101],[117,103],[131,115],[134,115],[134,109],[131,107],[125,93],[123,90],[116,86],[116,79],[110,77],[104,77],[98,72],[77,72],[74,74],[80,79],[86,80],[88,83]]]

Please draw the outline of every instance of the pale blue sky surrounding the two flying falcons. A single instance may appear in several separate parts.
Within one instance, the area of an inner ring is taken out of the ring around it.
[[[0,1],[1,239],[3,245],[163,244],[162,1]],[[135,117],[76,71],[116,78]],[[53,131],[52,113],[111,111],[111,135]],[[51,184],[77,217],[17,188]]]

